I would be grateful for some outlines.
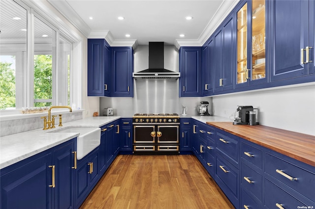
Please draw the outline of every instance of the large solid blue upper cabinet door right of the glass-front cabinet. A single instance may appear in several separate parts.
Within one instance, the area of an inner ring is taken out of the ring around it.
[[[301,49],[308,46],[309,1],[273,0],[270,11],[271,81],[308,75]]]

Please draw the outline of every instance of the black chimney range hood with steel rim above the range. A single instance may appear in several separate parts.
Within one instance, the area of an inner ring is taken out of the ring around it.
[[[178,79],[181,73],[164,69],[164,42],[149,42],[149,69],[132,73],[136,79]]]

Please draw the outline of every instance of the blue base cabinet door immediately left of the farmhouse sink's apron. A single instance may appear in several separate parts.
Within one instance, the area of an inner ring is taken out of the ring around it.
[[[74,208],[74,141],[68,141],[53,152],[56,187],[53,208]]]

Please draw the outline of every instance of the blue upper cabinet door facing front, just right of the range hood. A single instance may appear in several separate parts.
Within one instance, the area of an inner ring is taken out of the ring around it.
[[[181,47],[179,56],[180,97],[201,96],[201,47]]]

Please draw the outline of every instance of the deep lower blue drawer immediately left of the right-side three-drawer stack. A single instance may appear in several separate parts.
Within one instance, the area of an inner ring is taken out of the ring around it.
[[[220,155],[216,156],[216,182],[231,203],[234,206],[238,206],[239,170]]]

